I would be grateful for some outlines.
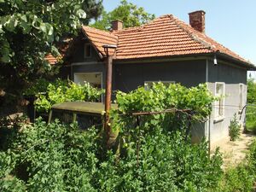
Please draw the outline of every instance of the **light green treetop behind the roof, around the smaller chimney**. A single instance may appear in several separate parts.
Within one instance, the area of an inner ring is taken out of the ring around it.
[[[154,17],[154,15],[148,14],[142,7],[138,8],[137,5],[122,0],[120,5],[116,9],[113,9],[113,11],[109,13],[103,11],[102,17],[96,20],[91,26],[108,30],[111,27],[110,23],[112,20],[122,20],[124,27],[141,26],[149,20],[153,20]]]

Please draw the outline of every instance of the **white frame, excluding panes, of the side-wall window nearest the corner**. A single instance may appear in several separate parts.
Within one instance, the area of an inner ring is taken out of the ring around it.
[[[217,87],[218,87],[218,84],[221,84],[223,85],[223,93],[221,95],[218,95],[217,93]],[[224,115],[225,115],[225,83],[224,82],[215,82],[215,87],[214,87],[214,96],[222,96],[221,99],[223,99],[223,104],[222,106],[220,105],[220,102],[219,100],[218,101],[215,101],[214,103],[214,119],[215,121],[218,121],[218,120],[222,120],[224,119]],[[220,115],[219,114],[219,108],[222,108],[222,114]]]

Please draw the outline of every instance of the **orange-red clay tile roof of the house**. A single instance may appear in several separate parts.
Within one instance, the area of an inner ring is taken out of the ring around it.
[[[105,55],[103,44],[117,45],[115,59],[118,60],[218,52],[247,62],[173,15],[161,16],[144,26],[113,32],[103,32],[89,26],[83,26],[83,30],[100,55]]]

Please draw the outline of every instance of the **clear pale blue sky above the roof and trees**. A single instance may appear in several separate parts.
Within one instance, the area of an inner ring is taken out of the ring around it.
[[[103,0],[111,11],[119,0]],[[256,0],[128,0],[156,16],[172,14],[189,23],[189,12],[204,10],[206,33],[256,65]],[[253,73],[256,77],[256,73]]]

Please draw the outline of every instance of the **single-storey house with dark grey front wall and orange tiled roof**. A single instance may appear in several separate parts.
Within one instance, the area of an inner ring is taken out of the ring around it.
[[[247,71],[253,64],[205,34],[205,12],[189,14],[189,25],[173,15],[161,16],[144,26],[122,28],[113,21],[113,31],[83,26],[82,35],[67,55],[69,77],[76,83],[90,82],[104,88],[106,53],[102,46],[113,44],[113,90],[130,91],[161,81],[194,86],[207,83],[215,96],[210,120],[194,128],[193,139],[210,139],[212,145],[227,140],[230,119],[241,113],[247,102]],[[110,54],[113,54],[111,49]],[[244,124],[245,112],[241,114]]]

